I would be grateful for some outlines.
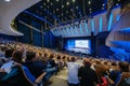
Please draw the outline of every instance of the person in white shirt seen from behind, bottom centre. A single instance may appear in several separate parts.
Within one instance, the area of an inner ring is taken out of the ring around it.
[[[79,80],[78,80],[78,69],[80,66],[76,62],[76,58],[72,57],[70,61],[67,62],[67,69],[68,69],[68,86],[79,86]]]

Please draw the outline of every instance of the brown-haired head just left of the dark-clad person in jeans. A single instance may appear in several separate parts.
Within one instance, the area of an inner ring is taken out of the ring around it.
[[[12,55],[12,58],[14,61],[21,63],[23,62],[23,52],[22,51],[15,51]]]

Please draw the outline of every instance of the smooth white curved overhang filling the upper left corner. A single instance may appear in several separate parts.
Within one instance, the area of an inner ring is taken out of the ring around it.
[[[31,6],[40,0],[0,0],[0,33],[10,35],[23,35],[23,33],[11,28],[10,24],[22,11]]]

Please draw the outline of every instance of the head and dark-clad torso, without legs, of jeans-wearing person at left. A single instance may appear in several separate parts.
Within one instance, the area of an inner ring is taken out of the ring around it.
[[[43,73],[43,69],[47,68],[47,63],[43,63],[41,60],[39,60],[35,52],[26,53],[26,59],[23,64],[27,67],[36,77]]]

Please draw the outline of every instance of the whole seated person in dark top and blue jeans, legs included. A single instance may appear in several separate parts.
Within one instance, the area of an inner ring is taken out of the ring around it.
[[[47,72],[42,81],[43,83],[44,82],[49,83],[48,82],[49,78],[56,71],[55,68],[48,68],[47,62],[43,62],[42,60],[38,60],[35,52],[26,53],[26,61],[24,66],[26,66],[36,77],[38,77],[41,73]]]

